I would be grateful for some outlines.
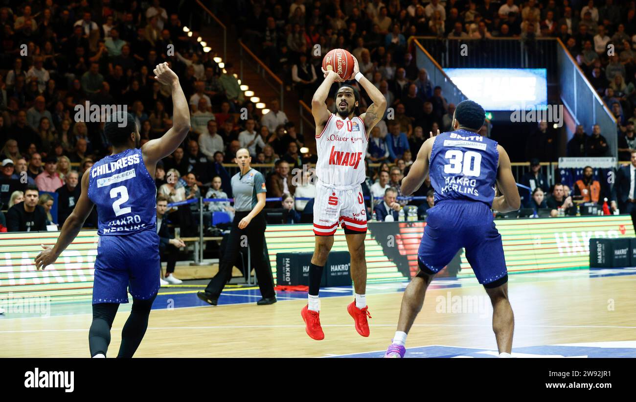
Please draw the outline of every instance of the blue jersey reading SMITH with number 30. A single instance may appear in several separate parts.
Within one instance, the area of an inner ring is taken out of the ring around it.
[[[498,163],[497,141],[467,130],[439,134],[429,160],[435,203],[473,200],[492,206]]]

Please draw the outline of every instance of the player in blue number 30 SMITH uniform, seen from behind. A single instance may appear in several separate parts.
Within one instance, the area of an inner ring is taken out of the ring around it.
[[[431,133],[402,180],[402,193],[410,195],[430,176],[435,206],[428,211],[417,253],[419,270],[404,291],[397,331],[385,357],[404,357],[406,334],[422,309],[427,287],[462,247],[490,296],[499,356],[510,357],[515,318],[508,302],[501,235],[490,209],[516,211],[521,202],[508,154],[497,142],[478,134],[484,120],[480,105],[472,100],[460,102],[453,114],[453,131],[439,134],[438,130],[435,137]],[[495,184],[502,193],[499,197],[495,197]]]

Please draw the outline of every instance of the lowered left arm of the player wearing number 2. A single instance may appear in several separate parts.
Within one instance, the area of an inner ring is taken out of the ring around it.
[[[73,212],[64,221],[62,232],[60,232],[55,246],[44,246],[44,249],[36,257],[36,270],[45,269],[48,265],[57,260],[62,251],[73,242],[78,235],[79,230],[84,226],[84,221],[88,218],[90,211],[93,210],[93,202],[88,198],[88,180],[90,179],[90,170],[86,170],[81,178],[81,194],[78,203],[75,205]]]

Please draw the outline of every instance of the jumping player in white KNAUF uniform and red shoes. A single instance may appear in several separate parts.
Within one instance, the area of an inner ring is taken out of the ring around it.
[[[356,116],[360,95],[357,90],[343,85],[336,93],[336,113],[330,113],[325,104],[329,88],[335,82],[343,82],[335,71],[322,71],[324,81],[312,99],[312,114],[316,123],[316,197],[314,200],[315,250],[309,268],[309,301],[301,310],[307,335],[315,340],[324,338],[318,300],[322,269],[333,246],[333,235],[339,225],[345,230],[351,255],[351,277],[354,282],[355,300],[347,307],[354,319],[356,331],[369,336],[366,307],[366,261],[364,238],[366,237],[366,207],[361,183],[366,176],[364,155],[369,144],[371,128],[382,119],[387,102],[384,95],[360,73],[354,57],[353,77],[373,100],[366,113]]]

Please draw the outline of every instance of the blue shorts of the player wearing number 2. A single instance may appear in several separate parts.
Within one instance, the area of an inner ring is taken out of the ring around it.
[[[93,304],[147,300],[159,290],[159,236],[154,228],[131,235],[100,236]]]

